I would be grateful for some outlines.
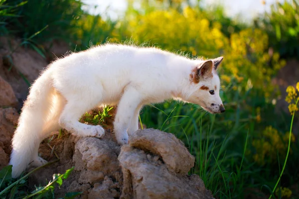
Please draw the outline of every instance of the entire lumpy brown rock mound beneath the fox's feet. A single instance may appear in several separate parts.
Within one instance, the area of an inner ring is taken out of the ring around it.
[[[29,182],[30,186],[45,185],[53,173],[75,166],[69,179],[56,189],[56,197],[80,191],[82,199],[212,198],[198,176],[187,175],[194,157],[173,134],[139,130],[122,147],[109,132],[103,139],[68,133],[59,139],[53,136],[50,142],[44,140],[39,152],[51,161],[55,159],[51,151],[55,151],[60,161],[34,173]]]

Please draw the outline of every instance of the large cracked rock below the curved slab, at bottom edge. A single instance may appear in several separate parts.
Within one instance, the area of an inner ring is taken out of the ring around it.
[[[121,199],[212,199],[198,176],[174,173],[145,151],[125,145],[119,161],[124,174]]]

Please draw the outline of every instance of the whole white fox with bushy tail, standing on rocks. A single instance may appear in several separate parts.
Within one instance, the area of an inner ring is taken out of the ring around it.
[[[153,47],[105,44],[51,63],[30,88],[12,138],[12,177],[28,166],[46,163],[40,142],[65,128],[77,136],[102,137],[104,129],[80,123],[86,111],[117,104],[114,132],[119,144],[138,130],[140,109],[147,103],[178,99],[210,113],[224,112],[216,69],[223,57],[188,59]]]

